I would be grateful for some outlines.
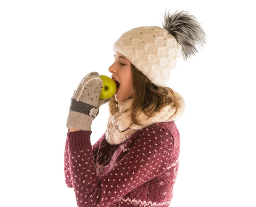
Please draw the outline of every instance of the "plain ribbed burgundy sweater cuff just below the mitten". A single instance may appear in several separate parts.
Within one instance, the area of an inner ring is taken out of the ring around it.
[[[92,131],[67,132],[68,143],[71,148],[91,147],[90,135]]]

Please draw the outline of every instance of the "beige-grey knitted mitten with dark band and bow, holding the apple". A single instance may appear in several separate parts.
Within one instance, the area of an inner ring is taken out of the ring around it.
[[[99,114],[99,107],[111,100],[99,99],[101,91],[102,79],[98,72],[90,72],[80,81],[70,100],[66,124],[68,129],[91,130],[92,121]]]

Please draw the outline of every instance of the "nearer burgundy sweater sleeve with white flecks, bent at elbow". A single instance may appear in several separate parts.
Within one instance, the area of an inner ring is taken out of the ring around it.
[[[96,174],[90,135],[67,134],[70,172],[78,207],[108,207],[139,185],[163,173],[169,165],[174,140],[169,132],[154,127],[135,138],[130,150],[104,175]]]

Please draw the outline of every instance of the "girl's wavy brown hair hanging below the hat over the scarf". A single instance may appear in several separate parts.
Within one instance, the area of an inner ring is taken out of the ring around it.
[[[131,97],[131,121],[141,125],[137,115],[143,111],[148,117],[154,116],[154,111],[159,112],[164,106],[174,103],[176,109],[180,107],[174,92],[169,87],[157,87],[140,70],[131,63],[132,82],[134,95]],[[110,115],[118,112],[118,101],[115,96],[108,102]],[[176,112],[175,112],[176,113]]]

